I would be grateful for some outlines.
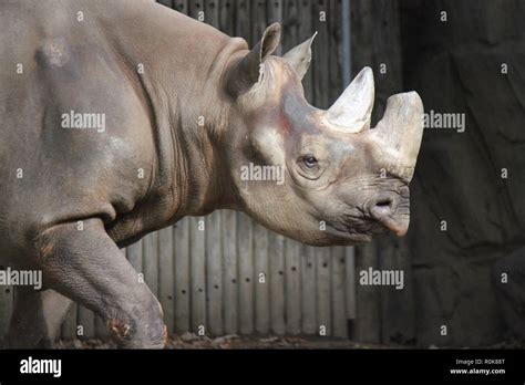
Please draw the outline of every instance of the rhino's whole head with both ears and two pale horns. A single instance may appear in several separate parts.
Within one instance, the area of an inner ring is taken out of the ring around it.
[[[309,105],[301,79],[313,38],[275,56],[280,25],[272,24],[226,71],[235,117],[225,144],[237,208],[313,246],[357,244],[387,230],[403,236],[423,133],[421,98],[391,96],[371,128],[374,85],[366,67],[328,111]]]

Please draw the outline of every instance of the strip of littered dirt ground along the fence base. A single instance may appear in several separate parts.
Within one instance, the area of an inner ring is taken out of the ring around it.
[[[172,336],[166,348],[414,348],[413,345],[362,344],[347,339],[321,336],[240,336],[225,335],[219,337],[199,336],[184,333]],[[426,346],[428,348],[439,348]],[[454,347],[454,346],[451,346]],[[459,346],[455,346],[459,347]],[[55,348],[116,348],[112,341],[68,340],[56,343]],[[469,348],[463,346],[460,348]],[[498,343],[484,348],[525,348],[523,343]]]

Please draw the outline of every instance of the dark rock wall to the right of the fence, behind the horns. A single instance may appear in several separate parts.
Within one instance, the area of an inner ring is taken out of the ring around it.
[[[372,65],[379,111],[415,90],[425,112],[465,114],[463,133],[424,132],[408,238],[360,249],[358,271],[394,267],[412,281],[403,293],[358,285],[356,337],[474,346],[523,333],[525,2],[352,4],[354,69]]]

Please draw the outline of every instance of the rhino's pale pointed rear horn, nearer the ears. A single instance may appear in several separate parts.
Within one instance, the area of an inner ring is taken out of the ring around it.
[[[369,129],[373,97],[373,73],[366,66],[327,111],[326,123],[333,129],[347,133]]]

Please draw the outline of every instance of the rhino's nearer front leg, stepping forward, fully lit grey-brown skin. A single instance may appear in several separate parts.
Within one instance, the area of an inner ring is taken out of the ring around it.
[[[47,285],[100,314],[121,347],[164,346],[161,304],[100,219],[50,228],[35,247]]]

